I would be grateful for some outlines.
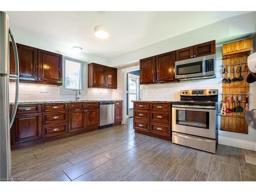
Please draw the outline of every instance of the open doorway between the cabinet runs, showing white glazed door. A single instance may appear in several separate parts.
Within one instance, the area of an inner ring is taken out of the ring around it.
[[[133,102],[132,100],[141,100],[139,70],[127,73],[127,115],[128,118],[133,117]]]

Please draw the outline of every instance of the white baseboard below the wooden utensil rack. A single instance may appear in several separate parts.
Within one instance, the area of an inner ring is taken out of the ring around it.
[[[256,151],[256,142],[219,136],[219,144]]]

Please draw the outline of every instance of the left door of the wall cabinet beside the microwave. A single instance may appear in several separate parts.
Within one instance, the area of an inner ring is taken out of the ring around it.
[[[156,57],[140,59],[140,84],[154,83]]]

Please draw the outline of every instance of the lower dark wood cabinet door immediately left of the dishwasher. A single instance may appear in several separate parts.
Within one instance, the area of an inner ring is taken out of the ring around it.
[[[87,109],[86,119],[84,120],[86,128],[94,128],[99,126],[99,110],[98,109]]]

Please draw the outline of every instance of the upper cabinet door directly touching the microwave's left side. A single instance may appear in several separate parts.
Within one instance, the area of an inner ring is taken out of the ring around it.
[[[175,52],[156,56],[156,82],[175,80]]]

